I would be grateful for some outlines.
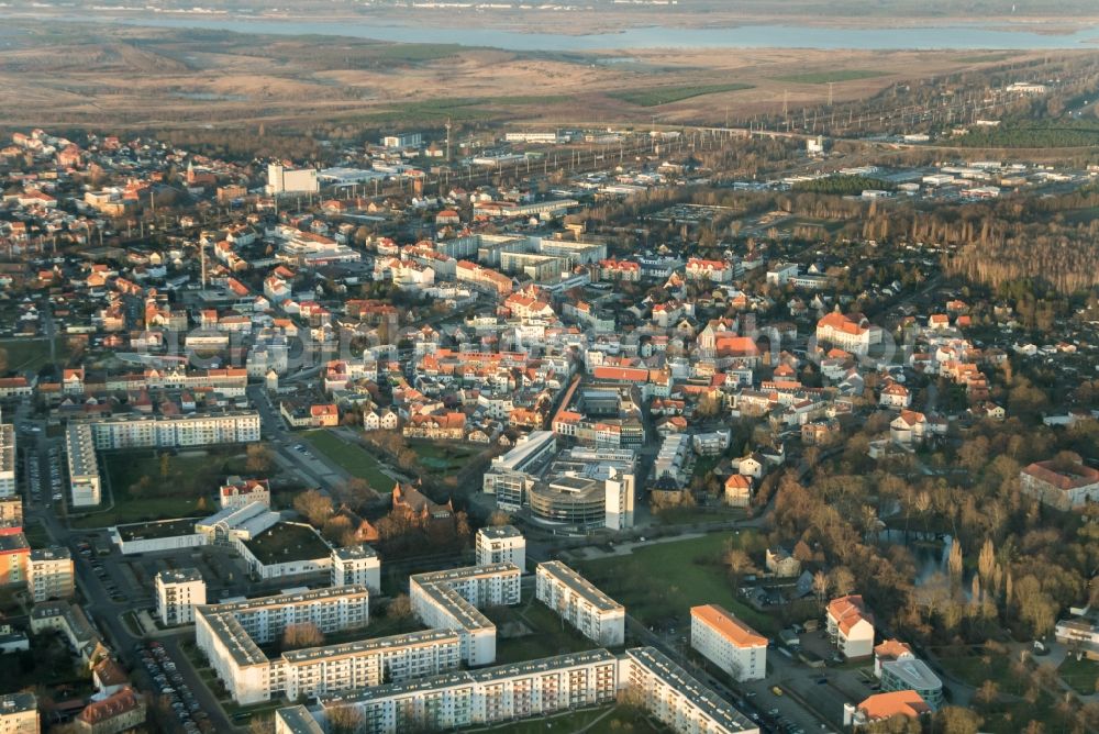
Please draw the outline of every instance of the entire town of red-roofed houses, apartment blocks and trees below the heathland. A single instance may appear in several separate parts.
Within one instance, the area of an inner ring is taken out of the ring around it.
[[[1099,726],[1099,165],[457,127],[0,147],[0,730]]]

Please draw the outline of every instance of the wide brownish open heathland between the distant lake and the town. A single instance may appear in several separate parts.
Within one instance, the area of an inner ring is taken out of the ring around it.
[[[312,129],[319,121],[380,130],[415,119],[430,130],[447,118],[459,125],[641,124],[651,123],[653,113],[665,124],[717,123],[726,107],[742,118],[775,112],[784,93],[791,107],[823,103],[825,81],[836,82],[840,103],[897,81],[1039,56],[775,48],[512,52],[13,20],[0,45],[0,96],[20,100],[4,116],[9,129],[155,132],[215,124],[254,132],[264,123],[273,134]],[[807,68],[839,70],[807,74]],[[576,119],[578,110],[584,120]]]

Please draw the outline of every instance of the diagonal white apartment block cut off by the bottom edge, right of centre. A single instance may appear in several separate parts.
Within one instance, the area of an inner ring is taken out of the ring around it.
[[[759,727],[655,647],[622,656],[619,687],[677,734],[758,734]]]

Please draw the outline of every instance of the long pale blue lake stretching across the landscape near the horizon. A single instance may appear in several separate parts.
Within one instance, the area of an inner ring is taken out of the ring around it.
[[[4,16],[0,12],[0,21]],[[51,16],[54,21],[103,22],[103,16]],[[279,21],[249,18],[158,18],[133,15],[107,19],[126,25],[202,29],[274,35],[321,35],[373,38],[400,43],[453,43],[508,51],[587,52],[628,48],[819,48],[819,49],[1067,49],[1099,47],[1099,25],[1072,33],[1041,33],[955,24],[939,27],[797,27],[742,25],[724,29],[629,27],[619,33],[568,35],[522,33],[486,27],[440,27],[426,24],[387,24],[377,21]],[[410,21],[411,22],[411,21]],[[0,23],[2,25],[2,23]]]

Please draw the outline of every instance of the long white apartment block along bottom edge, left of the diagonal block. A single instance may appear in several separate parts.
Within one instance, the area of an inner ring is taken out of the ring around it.
[[[608,704],[617,691],[618,660],[593,649],[322,696],[319,718],[354,707],[364,734],[448,731]]]

